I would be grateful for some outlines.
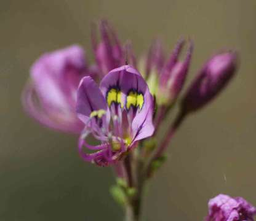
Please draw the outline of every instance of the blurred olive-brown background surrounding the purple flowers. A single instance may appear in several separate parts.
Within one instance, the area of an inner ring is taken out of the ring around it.
[[[20,104],[30,66],[42,53],[78,43],[92,61],[90,22],[100,18],[122,41],[130,39],[137,55],[155,37],[168,51],[180,36],[191,37],[187,83],[222,48],[235,48],[241,57],[227,90],[175,136],[169,160],[148,187],[144,220],[202,220],[218,193],[255,205],[255,0],[1,0],[0,220],[122,220],[108,193],[111,169],[83,162],[76,137],[43,128]]]

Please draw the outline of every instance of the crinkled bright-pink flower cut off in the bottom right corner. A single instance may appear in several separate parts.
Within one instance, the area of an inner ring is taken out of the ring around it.
[[[209,200],[206,221],[254,221],[256,207],[241,197],[220,194]]]

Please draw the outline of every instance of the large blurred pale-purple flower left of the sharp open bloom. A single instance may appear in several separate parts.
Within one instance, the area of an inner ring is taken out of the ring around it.
[[[45,126],[80,133],[76,91],[87,74],[84,50],[78,45],[42,55],[31,67],[31,80],[23,91],[25,110]]]

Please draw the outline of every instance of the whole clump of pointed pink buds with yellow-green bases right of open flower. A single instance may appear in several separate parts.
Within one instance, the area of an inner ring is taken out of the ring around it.
[[[154,42],[150,48],[146,58],[145,78],[159,105],[172,104],[183,88],[193,51],[190,41],[185,60],[179,61],[184,44],[184,40],[179,41],[167,61],[161,42]]]

